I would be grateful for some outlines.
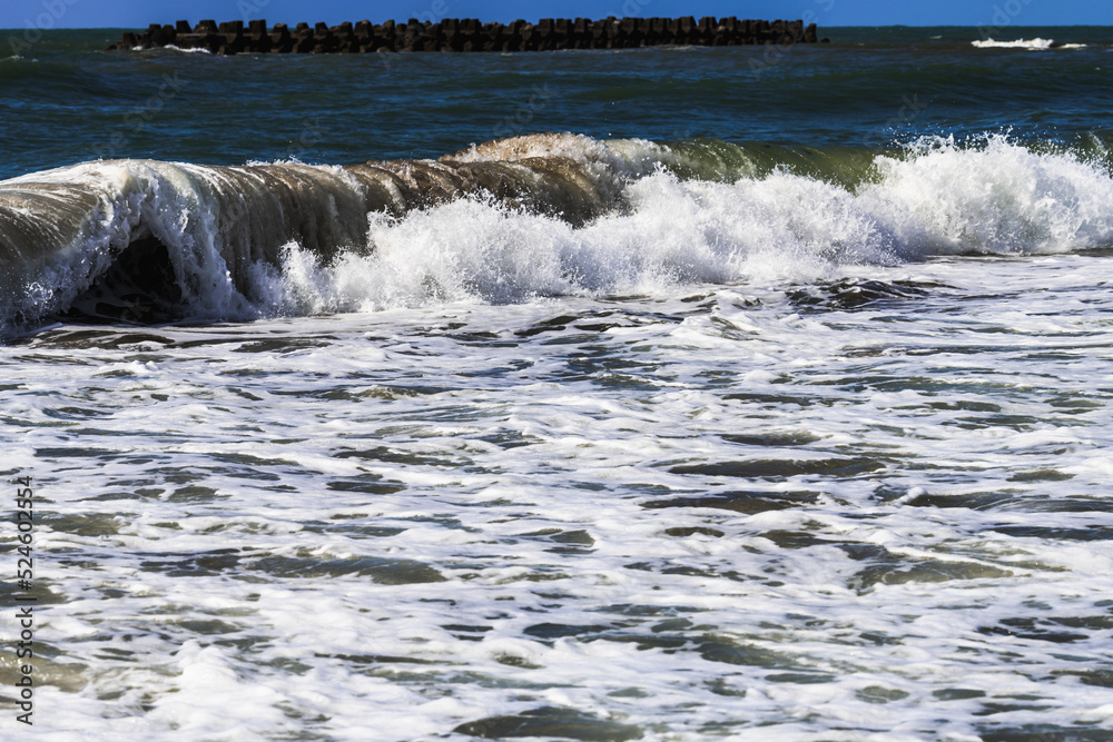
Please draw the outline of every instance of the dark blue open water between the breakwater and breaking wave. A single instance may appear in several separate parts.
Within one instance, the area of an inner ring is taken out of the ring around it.
[[[97,157],[240,165],[437,157],[539,131],[878,148],[923,135],[1104,137],[1107,28],[827,31],[830,44],[538,55],[213,58],[59,31],[0,60],[0,177]]]

